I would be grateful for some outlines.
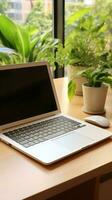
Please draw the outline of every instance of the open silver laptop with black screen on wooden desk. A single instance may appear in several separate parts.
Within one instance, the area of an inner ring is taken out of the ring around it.
[[[8,145],[49,165],[109,137],[61,114],[48,63],[0,67],[0,139]]]

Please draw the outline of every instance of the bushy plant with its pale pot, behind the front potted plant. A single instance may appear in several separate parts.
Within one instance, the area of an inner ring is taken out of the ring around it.
[[[74,33],[74,36],[68,40],[69,65],[67,67],[68,80],[74,80],[76,84],[76,95],[82,95],[82,84],[86,82],[84,77],[80,76],[80,71],[89,67],[97,66],[97,54],[93,49],[93,42],[86,33]]]

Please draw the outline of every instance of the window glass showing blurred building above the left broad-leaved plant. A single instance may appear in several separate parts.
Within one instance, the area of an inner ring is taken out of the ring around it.
[[[19,23],[30,23],[46,30],[52,25],[51,0],[0,0],[0,11]]]

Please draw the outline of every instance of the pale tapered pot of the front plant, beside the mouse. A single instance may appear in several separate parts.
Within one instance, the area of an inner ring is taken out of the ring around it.
[[[89,87],[82,85],[83,89],[83,111],[89,114],[102,114],[105,112],[105,101],[108,86]]]

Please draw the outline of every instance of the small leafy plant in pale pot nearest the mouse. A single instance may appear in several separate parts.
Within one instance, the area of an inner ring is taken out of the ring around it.
[[[112,72],[107,66],[90,68],[81,73],[87,79],[83,84],[83,111],[89,114],[103,114],[108,85],[112,86]]]

